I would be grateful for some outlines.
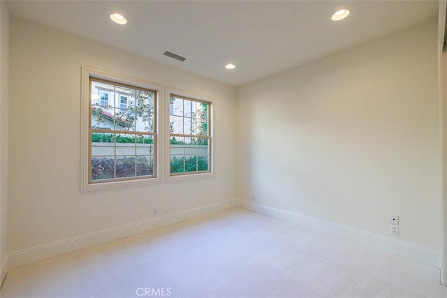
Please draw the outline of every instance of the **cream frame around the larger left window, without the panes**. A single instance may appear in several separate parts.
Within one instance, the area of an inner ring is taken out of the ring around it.
[[[161,84],[156,84],[153,82],[146,82],[143,80],[133,79],[131,77],[125,77],[123,75],[116,75],[113,73],[107,73],[102,70],[96,70],[94,68],[81,68],[81,191],[94,191],[108,188],[122,188],[129,186],[138,186],[138,185],[147,185],[160,183],[163,181],[163,177],[161,177],[161,170],[164,168],[164,159],[161,158],[161,152],[163,149],[164,140],[164,128],[159,124],[164,123],[164,108],[161,104],[161,98],[164,98],[164,89]],[[90,117],[90,77],[96,77],[102,80],[108,80],[112,82],[127,84],[135,87],[140,87],[144,89],[150,89],[156,91],[156,134],[158,138],[158,142],[156,142],[154,146],[154,150],[157,151],[156,154],[156,164],[157,167],[154,172],[154,177],[144,178],[144,179],[131,179],[131,180],[122,180],[122,181],[108,181],[102,183],[90,183],[89,182],[89,117]]]

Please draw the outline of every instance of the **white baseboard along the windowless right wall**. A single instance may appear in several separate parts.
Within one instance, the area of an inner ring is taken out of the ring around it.
[[[330,223],[328,221],[321,221],[316,218],[296,214],[290,211],[266,206],[263,204],[258,204],[256,202],[238,200],[237,205],[244,209],[255,211],[260,214],[279,218],[283,221],[289,221],[291,223],[298,223],[300,225],[307,226],[312,225],[313,228],[317,228],[322,232],[326,232],[328,234],[332,234],[337,237],[356,242],[358,244],[363,244],[380,251],[393,253],[395,255],[399,255],[400,257],[420,262],[425,265],[436,268],[439,268],[441,265],[441,253],[432,248],[418,246],[416,244],[383,237],[381,235],[365,232],[362,230],[356,230],[353,228],[345,227],[343,225]]]

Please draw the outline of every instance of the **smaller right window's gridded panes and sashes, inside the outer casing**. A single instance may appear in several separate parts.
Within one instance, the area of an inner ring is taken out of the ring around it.
[[[211,172],[211,103],[170,94],[170,176]]]

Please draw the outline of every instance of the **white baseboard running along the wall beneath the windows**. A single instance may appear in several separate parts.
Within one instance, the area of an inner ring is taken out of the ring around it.
[[[214,204],[208,204],[201,207],[187,209],[184,211],[175,212],[163,216],[156,216],[145,221],[137,223],[130,223],[116,228],[101,230],[98,232],[84,234],[77,237],[72,237],[60,241],[54,241],[49,244],[43,244],[26,248],[21,251],[8,253],[8,267],[7,269],[15,269],[25,265],[30,265],[35,262],[47,260],[50,258],[79,251],[80,249],[89,248],[105,242],[115,241],[125,237],[148,232],[156,228],[161,228],[166,225],[172,225],[182,221],[187,221],[191,218],[210,214],[215,211],[221,211],[236,206],[236,200],[226,200]],[[3,274],[3,271],[2,271]]]

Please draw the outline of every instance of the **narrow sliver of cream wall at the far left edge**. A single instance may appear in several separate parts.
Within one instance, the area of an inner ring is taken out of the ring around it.
[[[6,274],[6,220],[8,210],[8,89],[9,12],[0,1],[0,283]]]

